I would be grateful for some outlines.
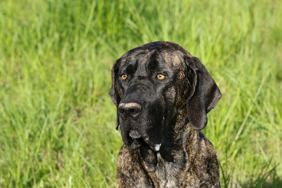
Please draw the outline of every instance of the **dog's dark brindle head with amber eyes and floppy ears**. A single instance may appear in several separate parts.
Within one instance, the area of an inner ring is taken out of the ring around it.
[[[198,58],[177,44],[157,41],[134,48],[115,61],[110,96],[117,107],[116,129],[130,149],[146,144],[158,151],[176,116],[196,130],[221,94]],[[174,122],[175,123],[175,122]]]

